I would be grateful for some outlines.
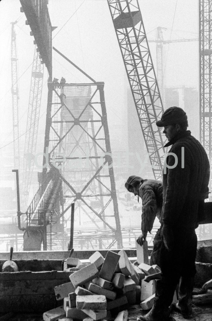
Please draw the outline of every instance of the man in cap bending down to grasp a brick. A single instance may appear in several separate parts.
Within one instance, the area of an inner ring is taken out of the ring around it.
[[[143,179],[133,175],[127,179],[125,187],[129,192],[134,193],[135,196],[138,195],[138,198],[140,196],[142,199],[142,234],[136,240],[137,243],[142,246],[147,233],[151,233],[155,217],[157,216],[160,221],[163,205],[163,184],[161,181],[155,179]],[[160,233],[160,229],[153,241],[154,247],[151,253],[151,265],[156,264],[158,233]]]

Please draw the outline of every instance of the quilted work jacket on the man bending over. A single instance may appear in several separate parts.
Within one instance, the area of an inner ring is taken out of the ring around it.
[[[139,187],[142,199],[141,230],[151,232],[155,217],[160,220],[163,204],[163,184],[155,179],[144,179]]]

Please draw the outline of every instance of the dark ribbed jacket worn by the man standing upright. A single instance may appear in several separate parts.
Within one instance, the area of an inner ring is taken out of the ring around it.
[[[163,171],[162,223],[173,230],[194,230],[199,203],[208,197],[208,156],[190,131],[178,133],[165,147],[170,145],[173,154],[167,156]]]

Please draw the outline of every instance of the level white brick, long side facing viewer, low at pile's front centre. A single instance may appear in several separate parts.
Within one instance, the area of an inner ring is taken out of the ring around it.
[[[104,295],[77,295],[77,309],[105,310],[107,301]]]

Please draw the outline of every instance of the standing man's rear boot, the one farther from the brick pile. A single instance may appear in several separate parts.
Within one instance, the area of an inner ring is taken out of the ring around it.
[[[182,277],[180,278],[179,285],[179,300],[175,304],[175,308],[188,319],[192,315],[192,291],[194,286],[194,278]]]

